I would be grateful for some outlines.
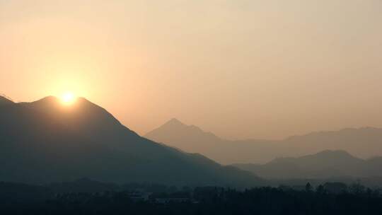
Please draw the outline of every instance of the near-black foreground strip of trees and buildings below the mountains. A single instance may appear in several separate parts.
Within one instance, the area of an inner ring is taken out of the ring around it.
[[[46,186],[0,182],[0,214],[382,214],[382,192],[342,183],[238,191],[90,180]]]

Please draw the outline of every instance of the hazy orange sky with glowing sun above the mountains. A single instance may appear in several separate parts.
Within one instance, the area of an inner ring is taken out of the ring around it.
[[[382,127],[382,1],[0,0],[0,93],[64,91],[139,134]]]

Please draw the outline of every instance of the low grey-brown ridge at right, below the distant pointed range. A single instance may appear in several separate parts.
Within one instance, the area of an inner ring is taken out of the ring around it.
[[[269,163],[234,166],[269,179],[382,176],[382,157],[363,160],[346,151],[321,151],[298,158],[276,158]]]

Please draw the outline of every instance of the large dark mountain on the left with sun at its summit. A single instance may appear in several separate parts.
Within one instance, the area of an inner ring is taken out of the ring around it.
[[[4,100],[4,98],[1,98]],[[0,106],[0,181],[253,186],[252,173],[145,139],[85,98]]]

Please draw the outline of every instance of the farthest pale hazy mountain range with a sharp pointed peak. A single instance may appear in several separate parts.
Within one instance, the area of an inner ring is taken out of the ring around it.
[[[194,125],[172,119],[145,135],[183,151],[202,153],[219,163],[267,163],[277,157],[297,157],[324,150],[344,150],[360,158],[382,155],[382,129],[342,129],[313,132],[282,140],[226,140]]]

